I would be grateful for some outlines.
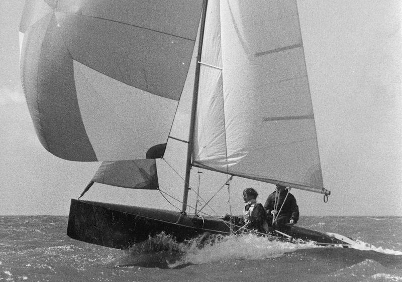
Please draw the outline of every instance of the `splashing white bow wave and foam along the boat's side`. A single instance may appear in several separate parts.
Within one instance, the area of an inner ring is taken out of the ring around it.
[[[272,258],[298,249],[317,247],[310,242],[295,244],[270,241],[253,234],[203,234],[178,243],[171,236],[162,233],[133,246],[126,255],[118,259],[117,266],[177,268],[225,260]]]

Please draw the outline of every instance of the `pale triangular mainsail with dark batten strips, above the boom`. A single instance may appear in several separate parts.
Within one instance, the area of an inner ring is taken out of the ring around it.
[[[323,192],[296,1],[209,1],[193,165]]]

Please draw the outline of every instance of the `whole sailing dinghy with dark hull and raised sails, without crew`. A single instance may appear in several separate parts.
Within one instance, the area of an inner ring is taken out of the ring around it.
[[[160,189],[166,144],[187,145],[180,211],[71,200],[67,235],[128,248],[239,229],[187,213],[191,167],[324,194],[296,1],[34,0],[20,25],[21,75],[44,148],[103,161],[94,182]],[[171,134],[191,95],[188,136]],[[81,195],[82,196],[82,195]],[[349,245],[286,226],[268,239]]]

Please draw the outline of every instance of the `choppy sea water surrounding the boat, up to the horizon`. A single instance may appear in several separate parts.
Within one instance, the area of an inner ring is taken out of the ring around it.
[[[302,216],[300,226],[356,240],[350,248],[160,234],[117,250],[73,240],[65,216],[0,216],[4,281],[402,281],[402,217]]]

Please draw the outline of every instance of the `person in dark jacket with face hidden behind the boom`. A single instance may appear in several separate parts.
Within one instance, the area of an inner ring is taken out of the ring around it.
[[[295,224],[298,220],[298,206],[296,199],[286,190],[286,186],[277,184],[264,204],[268,216],[268,223],[274,227],[284,227],[286,223]]]

